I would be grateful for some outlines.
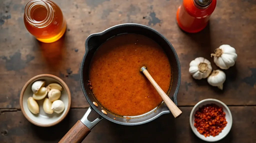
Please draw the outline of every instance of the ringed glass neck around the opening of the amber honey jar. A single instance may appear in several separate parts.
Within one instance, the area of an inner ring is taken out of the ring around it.
[[[38,7],[44,7],[47,10],[47,15],[45,19],[42,21],[36,21],[33,19],[33,16],[32,16],[33,11]],[[49,3],[47,3],[45,0],[31,0],[25,6],[24,15],[29,24],[38,28],[43,28],[48,26],[53,20],[54,10],[52,6]]]

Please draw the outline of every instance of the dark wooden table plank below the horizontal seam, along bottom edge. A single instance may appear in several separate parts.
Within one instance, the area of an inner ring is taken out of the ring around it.
[[[233,116],[233,126],[223,143],[253,143],[256,140],[256,106],[229,107]],[[189,126],[192,107],[181,107],[183,114],[174,119],[172,114],[163,115],[156,120],[139,126],[123,126],[103,119],[83,141],[102,142],[173,142],[200,143]],[[71,109],[60,124],[53,127],[37,127],[23,116],[22,112],[4,112],[0,115],[0,140],[8,143],[58,142],[67,131],[86,112],[86,109]],[[253,115],[253,116],[251,116]],[[91,118],[98,117],[93,113]]]

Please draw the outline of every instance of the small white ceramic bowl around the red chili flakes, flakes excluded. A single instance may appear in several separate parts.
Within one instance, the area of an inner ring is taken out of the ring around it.
[[[226,121],[228,122],[227,126],[221,131],[221,133],[219,133],[219,135],[217,135],[215,137],[213,137],[213,136],[205,137],[204,135],[201,135],[197,131],[196,127],[194,126],[194,123],[195,123],[194,115],[195,115],[196,111],[198,110],[199,107],[202,107],[203,105],[206,105],[206,104],[216,104],[216,105],[222,107],[223,111],[226,113]],[[225,103],[223,103],[217,99],[209,98],[209,99],[204,99],[204,100],[198,102],[194,106],[194,108],[192,109],[192,111],[190,113],[189,123],[190,123],[190,127],[191,127],[192,131],[196,134],[197,137],[199,137],[200,139],[202,139],[204,141],[213,142],[213,141],[221,140],[227,136],[227,134],[229,133],[231,126],[232,126],[232,115],[231,115],[231,112],[230,112],[228,106]]]

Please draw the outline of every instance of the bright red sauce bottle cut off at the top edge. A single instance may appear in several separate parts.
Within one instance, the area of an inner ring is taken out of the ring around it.
[[[178,26],[189,33],[203,30],[216,7],[216,0],[183,0],[176,14]]]

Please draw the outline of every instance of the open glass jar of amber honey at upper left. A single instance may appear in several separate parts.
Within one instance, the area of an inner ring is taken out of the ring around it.
[[[49,0],[31,0],[25,6],[24,24],[37,40],[51,43],[66,31],[66,20],[57,4]]]

